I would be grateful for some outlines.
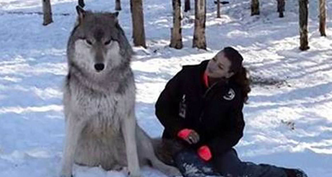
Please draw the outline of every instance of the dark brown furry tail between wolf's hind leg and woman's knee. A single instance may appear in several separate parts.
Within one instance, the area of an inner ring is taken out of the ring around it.
[[[173,156],[183,149],[183,145],[177,140],[161,138],[151,139],[154,153],[163,163],[175,166]]]

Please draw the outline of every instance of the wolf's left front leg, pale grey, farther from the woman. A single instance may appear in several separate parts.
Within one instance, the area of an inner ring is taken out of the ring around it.
[[[76,145],[84,125],[82,121],[77,121],[74,117],[68,117],[66,120],[66,139],[62,156],[61,177],[73,176],[72,168],[75,159]]]

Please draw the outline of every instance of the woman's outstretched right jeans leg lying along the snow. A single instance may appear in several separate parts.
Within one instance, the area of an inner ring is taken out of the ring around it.
[[[215,157],[213,165],[217,172],[227,177],[287,177],[282,168],[273,165],[241,162],[235,149]]]

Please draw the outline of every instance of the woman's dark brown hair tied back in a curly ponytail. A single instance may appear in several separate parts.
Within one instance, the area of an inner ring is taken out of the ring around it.
[[[229,72],[234,72],[234,75],[229,78],[229,81],[240,86],[243,102],[246,102],[251,89],[250,81],[247,78],[247,70],[242,65],[243,57],[232,47],[225,47],[222,51],[225,57],[231,62]]]

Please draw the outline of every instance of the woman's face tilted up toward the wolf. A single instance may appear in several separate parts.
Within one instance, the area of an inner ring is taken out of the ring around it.
[[[218,52],[207,64],[207,76],[211,78],[230,78],[234,75],[229,72],[231,62],[225,57],[224,52]]]

